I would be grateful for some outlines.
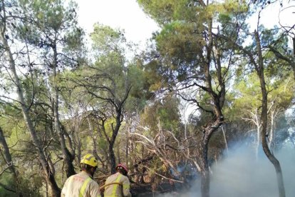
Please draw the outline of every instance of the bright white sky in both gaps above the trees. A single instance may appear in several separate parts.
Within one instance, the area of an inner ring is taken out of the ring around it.
[[[137,44],[145,44],[153,31],[160,29],[155,21],[150,19],[136,0],[76,0],[78,3],[78,21],[89,34],[93,30],[93,24],[99,22],[113,28],[125,30],[125,36],[129,41]],[[283,7],[279,4],[282,2]],[[286,8],[289,7],[289,8]],[[279,14],[279,11],[281,14]],[[295,23],[295,1],[276,1],[266,6],[262,11],[260,24],[271,28],[275,24],[293,26]],[[249,20],[252,28],[257,27],[257,16]]]

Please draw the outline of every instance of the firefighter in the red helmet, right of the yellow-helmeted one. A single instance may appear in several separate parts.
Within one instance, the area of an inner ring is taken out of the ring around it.
[[[131,197],[130,181],[127,177],[128,168],[124,163],[118,164],[115,167],[117,173],[109,176],[105,181],[105,185],[113,183],[105,187],[105,197]]]

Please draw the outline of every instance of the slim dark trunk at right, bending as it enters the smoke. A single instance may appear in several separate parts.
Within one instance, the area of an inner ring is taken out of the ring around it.
[[[258,65],[256,65],[257,75],[259,76],[260,86],[262,89],[262,115],[261,115],[261,121],[262,121],[262,132],[261,132],[261,138],[262,138],[262,148],[267,158],[269,158],[269,161],[274,165],[274,168],[276,170],[276,181],[278,183],[279,188],[279,196],[285,197],[285,188],[284,188],[284,179],[283,174],[281,172],[281,165],[279,161],[276,159],[276,157],[271,153],[269,150],[268,143],[266,141],[266,126],[267,126],[267,91],[266,91],[266,83],[264,79],[264,63],[263,63],[263,57],[262,57],[262,49],[260,44],[260,38],[257,31],[254,31],[255,39],[257,41],[257,53],[258,53]]]

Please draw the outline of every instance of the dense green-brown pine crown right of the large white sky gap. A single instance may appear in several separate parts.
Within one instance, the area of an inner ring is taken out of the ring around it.
[[[144,11],[162,26],[161,31],[154,35],[157,53],[150,53],[152,60],[146,64],[147,71],[155,77],[150,89],[172,88],[179,82],[183,84],[196,82],[203,85],[207,77],[204,65],[208,58],[212,61],[210,74],[213,77],[216,74],[214,64],[220,57],[224,67],[222,76],[227,77],[226,65],[231,64],[230,61],[234,59],[232,57],[234,44],[219,35],[242,43],[244,36],[240,37],[238,34],[240,27],[237,24],[238,20],[247,18],[246,2],[225,1],[211,4],[190,0],[138,2]],[[212,22],[218,22],[217,27],[214,24],[212,34],[214,34],[213,47],[219,51],[213,51],[214,54],[208,57],[205,53],[208,47],[212,47],[208,46],[208,35],[211,34],[208,32],[210,31],[208,26]],[[247,28],[247,25],[242,24],[242,27]],[[218,87],[220,81],[215,78],[214,82],[217,82],[215,85]]]

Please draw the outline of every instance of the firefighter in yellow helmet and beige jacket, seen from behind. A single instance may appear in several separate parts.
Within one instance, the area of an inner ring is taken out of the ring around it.
[[[87,154],[80,162],[81,172],[70,176],[63,186],[61,196],[65,197],[100,197],[98,183],[93,181],[93,175],[98,167],[98,161],[92,154]]]

